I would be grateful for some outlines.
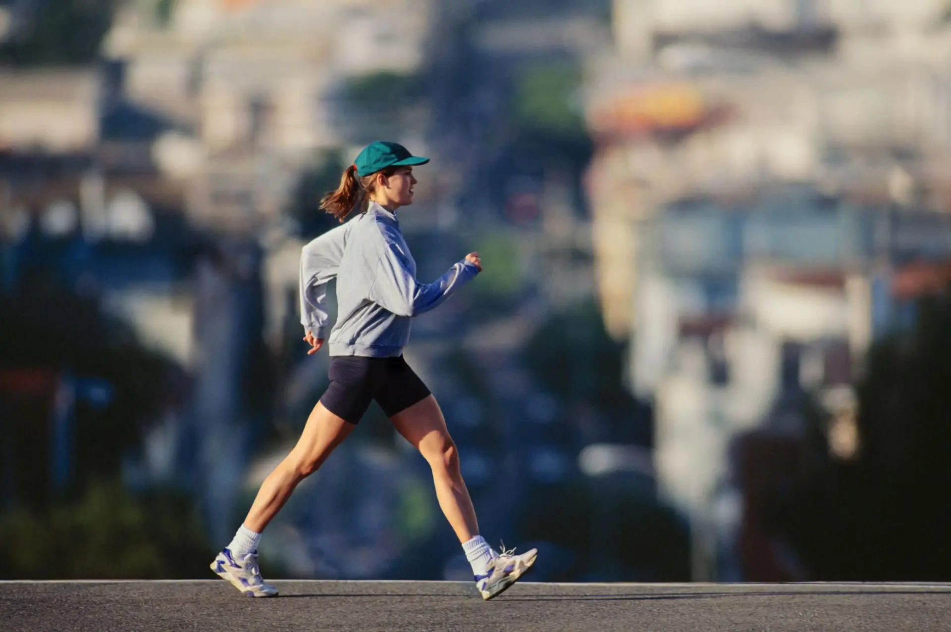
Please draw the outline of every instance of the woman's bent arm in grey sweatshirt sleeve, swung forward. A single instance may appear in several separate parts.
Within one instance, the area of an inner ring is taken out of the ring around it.
[[[386,243],[368,298],[398,316],[418,316],[437,307],[477,274],[476,265],[463,259],[432,283],[420,283],[399,246]]]

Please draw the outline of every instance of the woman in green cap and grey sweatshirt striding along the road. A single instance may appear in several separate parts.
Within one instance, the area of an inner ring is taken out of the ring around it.
[[[360,151],[320,208],[341,222],[301,253],[301,323],[314,354],[323,346],[326,284],[337,278],[338,317],[330,332],[330,386],[314,407],[297,445],[258,491],[234,540],[211,568],[245,595],[271,597],[258,568],[258,542],[294,488],[317,471],[376,399],[397,431],[433,470],[439,508],[473,567],[482,599],[492,599],[533,564],[536,551],[495,552],[479,535],[476,510],[459,473],[459,458],[436,398],[403,359],[410,322],[437,307],[482,270],[478,253],[453,264],[432,283],[416,279],[416,262],[399,231],[397,209],[413,203],[413,166],[428,163],[400,144],[376,142]]]

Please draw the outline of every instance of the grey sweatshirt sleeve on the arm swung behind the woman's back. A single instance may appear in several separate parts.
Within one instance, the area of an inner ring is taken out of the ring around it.
[[[346,226],[338,226],[310,241],[301,250],[301,325],[314,337],[326,337],[327,283],[337,277],[343,258]]]

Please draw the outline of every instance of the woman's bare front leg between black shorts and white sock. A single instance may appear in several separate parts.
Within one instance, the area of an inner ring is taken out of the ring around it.
[[[397,431],[419,450],[433,469],[433,483],[439,508],[460,543],[478,535],[476,508],[459,471],[456,444],[446,429],[446,420],[436,397],[429,395],[390,417]]]

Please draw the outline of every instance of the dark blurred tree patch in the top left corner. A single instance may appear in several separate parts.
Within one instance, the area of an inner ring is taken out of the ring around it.
[[[29,27],[0,46],[0,64],[84,66],[94,62],[115,5],[114,0],[36,3]]]

